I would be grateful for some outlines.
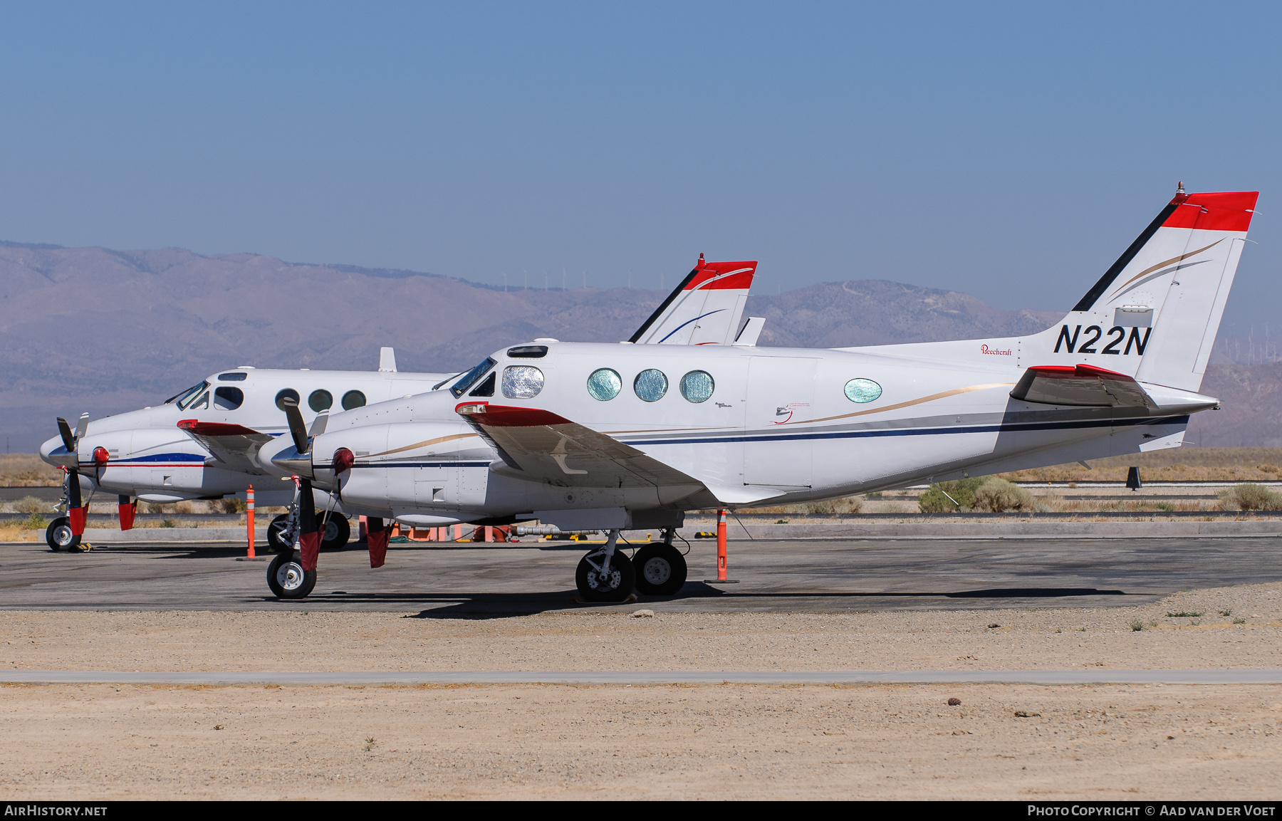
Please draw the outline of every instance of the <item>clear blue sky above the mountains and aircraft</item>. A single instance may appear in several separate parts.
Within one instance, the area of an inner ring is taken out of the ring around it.
[[[1263,191],[1245,332],[1282,296],[1278,8],[6,4],[0,238],[540,287],[703,251],[1054,310],[1185,179]]]

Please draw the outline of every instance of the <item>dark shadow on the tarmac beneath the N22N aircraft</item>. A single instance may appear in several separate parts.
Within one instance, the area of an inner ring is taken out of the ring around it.
[[[1100,590],[1096,588],[990,588],[982,590],[959,592],[738,592],[723,590],[701,581],[687,583],[676,596],[646,597],[640,602],[620,602],[613,607],[635,607],[645,603],[679,602],[696,598],[720,599],[774,599],[774,601],[801,601],[817,598],[832,599],[872,599],[872,598],[1068,598],[1081,596],[1127,596],[1123,590]],[[579,610],[582,607],[610,607],[608,603],[585,605],[577,601],[574,590],[549,590],[542,593],[347,593],[335,590],[329,594],[313,594],[308,599],[297,602],[314,602],[315,599],[328,602],[341,601],[353,605],[360,603],[428,603],[442,602],[441,607],[419,611],[406,619],[509,619],[513,616],[533,615],[540,612],[554,612],[562,610]],[[449,603],[445,603],[449,602]]]

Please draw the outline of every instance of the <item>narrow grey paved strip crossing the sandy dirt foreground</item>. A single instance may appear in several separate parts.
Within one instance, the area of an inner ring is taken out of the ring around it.
[[[118,672],[5,670],[3,684],[417,687],[423,684],[1282,684],[1282,670]]]

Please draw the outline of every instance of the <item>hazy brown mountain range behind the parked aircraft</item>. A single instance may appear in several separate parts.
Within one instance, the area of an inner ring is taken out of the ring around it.
[[[673,272],[674,275],[685,272]],[[674,280],[674,279],[673,279]],[[628,338],[665,295],[524,289],[437,274],[286,263],[254,254],[0,242],[0,433],[31,452],[73,419],[154,405],[214,370],[462,370],[535,337]],[[1003,311],[973,296],[886,280],[828,282],[749,297],[759,345],[840,347],[1026,334],[1061,313]],[[1214,365],[1188,441],[1279,446],[1282,364]]]

